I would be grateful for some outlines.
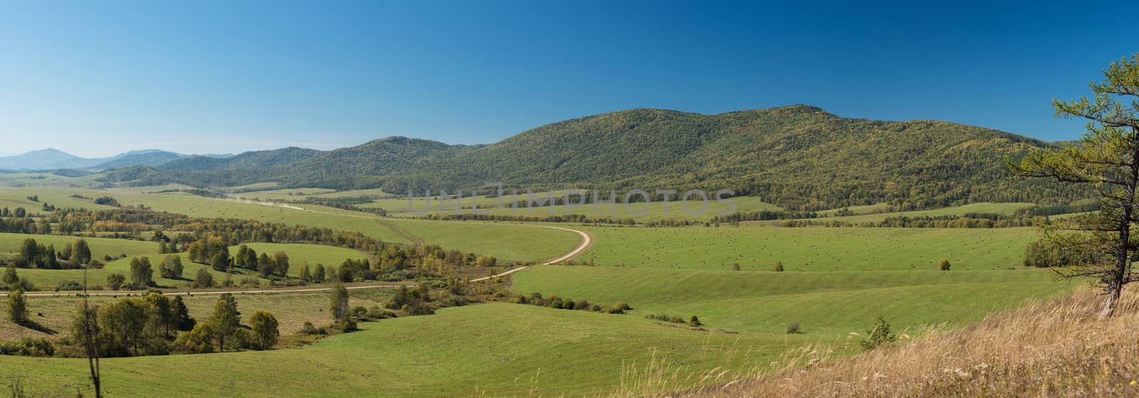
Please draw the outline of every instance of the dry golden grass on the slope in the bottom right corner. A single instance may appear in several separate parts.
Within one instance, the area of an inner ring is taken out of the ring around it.
[[[1090,290],[997,314],[962,330],[838,358],[794,350],[747,373],[683,375],[667,364],[625,372],[615,397],[1125,397],[1139,396],[1139,289],[1097,320]],[[683,379],[683,380],[681,380]],[[677,393],[691,381],[705,387]]]

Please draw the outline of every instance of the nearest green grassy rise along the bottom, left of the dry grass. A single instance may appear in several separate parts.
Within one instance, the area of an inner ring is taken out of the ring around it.
[[[637,315],[506,303],[361,326],[301,349],[104,359],[104,391],[115,397],[582,396],[612,391],[623,368],[644,368],[654,359],[683,365],[685,372],[737,369],[768,364],[810,339],[695,332]],[[87,385],[85,362],[0,362],[0,382],[16,377],[34,396],[73,395]]]

